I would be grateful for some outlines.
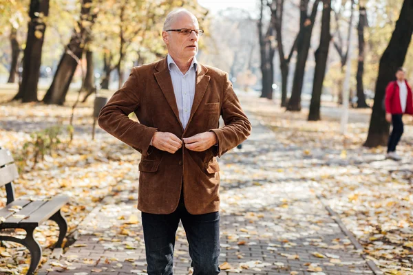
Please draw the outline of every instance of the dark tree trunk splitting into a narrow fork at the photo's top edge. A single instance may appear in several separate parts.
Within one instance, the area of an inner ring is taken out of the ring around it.
[[[295,63],[293,89],[291,91],[291,98],[288,100],[287,111],[301,111],[301,91],[304,83],[308,50],[310,49],[311,34],[313,33],[318,4],[319,0],[315,0],[311,15],[308,17],[308,0],[301,0],[301,24],[299,40],[297,43],[297,63]]]

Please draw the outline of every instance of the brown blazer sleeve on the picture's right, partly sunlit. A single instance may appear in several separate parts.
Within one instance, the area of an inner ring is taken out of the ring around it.
[[[221,115],[225,126],[211,130],[218,138],[218,146],[213,146],[213,153],[218,157],[241,144],[251,134],[251,122],[242,111],[228,74],[225,74],[223,89]]]

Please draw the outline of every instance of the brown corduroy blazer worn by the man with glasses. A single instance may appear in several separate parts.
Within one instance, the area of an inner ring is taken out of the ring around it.
[[[135,112],[139,122],[128,118]],[[225,126],[219,128],[222,115]],[[195,97],[187,128],[183,129],[167,58],[134,67],[123,87],[100,111],[99,126],[142,153],[139,164],[138,209],[152,214],[176,210],[182,187],[184,203],[191,214],[206,214],[220,208],[220,167],[216,157],[237,146],[251,133],[228,74],[198,63]],[[156,131],[191,137],[213,131],[218,146],[195,152],[180,148],[176,153],[150,146]]]

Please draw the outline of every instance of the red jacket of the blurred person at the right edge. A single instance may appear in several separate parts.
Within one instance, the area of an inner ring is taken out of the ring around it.
[[[405,80],[407,86],[407,104],[405,113],[413,115],[413,100],[412,100],[412,88]],[[399,94],[399,85],[397,81],[392,81],[388,84],[388,87],[385,88],[385,112],[386,113],[403,113],[401,111],[400,104],[400,94]]]

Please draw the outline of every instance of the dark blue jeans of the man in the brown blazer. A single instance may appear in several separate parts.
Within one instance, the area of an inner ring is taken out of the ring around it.
[[[220,214],[189,214],[181,194],[178,208],[171,214],[142,212],[143,237],[149,275],[171,275],[176,230],[182,221],[189,243],[193,275],[220,273]]]

